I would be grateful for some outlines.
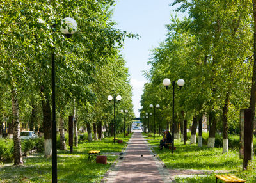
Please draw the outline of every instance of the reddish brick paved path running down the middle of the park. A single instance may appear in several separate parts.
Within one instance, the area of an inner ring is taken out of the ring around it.
[[[109,172],[107,182],[172,182],[168,170],[154,157],[141,132],[134,132],[124,153],[124,159]]]

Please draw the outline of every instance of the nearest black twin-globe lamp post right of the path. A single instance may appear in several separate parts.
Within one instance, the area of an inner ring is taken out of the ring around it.
[[[173,153],[173,148],[174,148],[174,89],[175,89],[175,81],[172,81],[172,86],[173,86],[173,92],[172,92],[172,153]],[[171,84],[170,79],[165,78],[163,80],[163,84],[168,89],[168,86]],[[185,81],[183,79],[178,79],[177,84],[180,88],[184,86]]]

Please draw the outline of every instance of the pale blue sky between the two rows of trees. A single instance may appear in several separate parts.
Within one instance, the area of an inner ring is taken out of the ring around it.
[[[158,47],[166,38],[165,25],[170,23],[171,13],[175,7],[170,6],[173,0],[118,0],[116,3],[113,20],[116,28],[131,33],[138,33],[141,38],[125,40],[122,55],[131,74],[132,102],[134,114],[140,116],[140,100],[143,93],[143,85],[147,79],[143,77],[143,71],[149,70],[150,50]],[[178,17],[182,14],[178,13]]]

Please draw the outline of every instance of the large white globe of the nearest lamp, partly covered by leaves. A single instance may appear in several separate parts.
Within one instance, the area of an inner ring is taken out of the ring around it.
[[[64,24],[64,25],[63,25]],[[70,18],[70,17],[66,17],[64,19],[61,20],[61,33],[63,33],[63,35],[72,35],[77,31],[77,23],[76,20]]]

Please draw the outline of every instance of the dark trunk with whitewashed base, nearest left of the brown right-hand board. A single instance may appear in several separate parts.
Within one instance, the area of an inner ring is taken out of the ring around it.
[[[228,113],[228,107],[229,107],[229,92],[226,93],[225,98],[225,105],[222,109],[222,122],[223,122],[223,153],[228,152],[228,119],[227,119],[227,113]]]

